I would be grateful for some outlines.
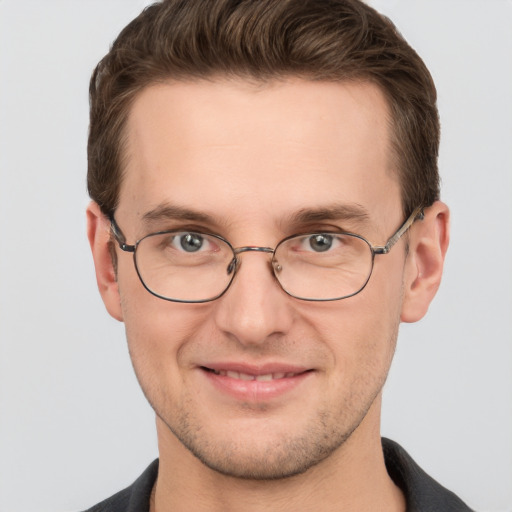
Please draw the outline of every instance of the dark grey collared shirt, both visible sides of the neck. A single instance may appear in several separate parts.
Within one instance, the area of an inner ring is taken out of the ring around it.
[[[382,439],[386,468],[402,489],[407,512],[473,512],[453,492],[429,477],[397,443]],[[86,512],[149,512],[149,497],[158,474],[158,459],[126,489]]]

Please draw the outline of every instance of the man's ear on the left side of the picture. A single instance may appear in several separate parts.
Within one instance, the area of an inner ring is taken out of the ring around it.
[[[122,321],[121,298],[110,252],[110,221],[94,201],[87,207],[87,237],[91,246],[96,282],[107,311]]]

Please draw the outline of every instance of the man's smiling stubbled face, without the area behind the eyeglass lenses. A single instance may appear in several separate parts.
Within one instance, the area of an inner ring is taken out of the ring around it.
[[[116,221],[130,244],[180,228],[234,247],[275,247],[295,233],[332,229],[384,244],[404,220],[388,117],[370,84],[149,87],[128,121]],[[286,295],[268,254],[241,259],[220,299],[180,304],[148,293],[131,255],[117,250],[118,289],[106,302],[125,322],[160,440],[224,474],[301,473],[337,457],[356,433],[364,441],[378,429],[404,241],[376,256],[361,293],[334,302]]]

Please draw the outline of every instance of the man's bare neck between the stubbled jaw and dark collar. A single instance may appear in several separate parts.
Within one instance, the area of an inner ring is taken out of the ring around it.
[[[350,438],[321,463],[301,475],[270,481],[239,479],[207,468],[157,420],[160,466],[151,512],[403,512],[404,497],[386,471],[379,429],[364,424],[375,425],[372,414],[370,410]]]

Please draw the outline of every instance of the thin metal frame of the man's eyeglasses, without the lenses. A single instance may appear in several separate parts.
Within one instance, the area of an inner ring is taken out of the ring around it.
[[[354,295],[357,295],[358,293],[360,293],[365,288],[365,286],[368,284],[368,281],[370,280],[370,277],[371,277],[371,275],[373,273],[373,264],[374,264],[375,255],[377,255],[377,254],[388,254],[389,251],[391,251],[392,247],[398,242],[398,240],[400,240],[400,238],[402,238],[402,236],[409,230],[409,228],[413,225],[413,223],[416,220],[418,220],[418,219],[419,220],[423,220],[424,216],[425,215],[424,215],[423,207],[422,206],[419,206],[419,207],[415,208],[415,210],[405,220],[405,222],[397,229],[397,231],[395,231],[395,233],[393,233],[393,235],[391,235],[391,237],[388,239],[388,241],[386,242],[385,245],[372,245],[368,240],[366,240],[366,238],[364,238],[363,236],[358,235],[356,233],[350,233],[350,232],[339,232],[338,233],[340,235],[354,236],[356,238],[359,238],[359,239],[363,240],[368,245],[368,247],[370,248],[370,251],[372,253],[371,268],[370,268],[370,272],[368,273],[368,278],[366,279],[364,284],[359,288],[359,290],[357,290],[354,293],[351,293],[350,295],[344,295],[342,297],[334,297],[334,298],[329,298],[329,299],[317,299],[317,298],[298,297],[296,295],[293,295],[289,291],[287,291],[283,287],[281,282],[279,281],[279,278],[277,277],[277,272],[279,272],[279,270],[280,270],[280,268],[279,268],[280,265],[279,264],[274,264],[272,266],[272,268],[274,269],[274,277],[276,278],[276,281],[279,283],[279,286],[281,287],[281,289],[287,295],[289,295],[290,297],[294,297],[295,299],[305,300],[305,301],[309,301],[309,302],[328,302],[328,301],[342,300],[342,299],[347,299],[349,297],[353,297]],[[252,245],[247,245],[247,246],[243,246],[243,247],[234,248],[225,238],[223,238],[223,237],[221,237],[219,235],[215,235],[213,233],[204,233],[205,235],[207,234],[208,236],[213,236],[215,238],[218,238],[219,240],[222,240],[224,243],[226,243],[231,248],[231,250],[233,251],[233,259],[231,260],[231,263],[228,265],[227,272],[228,272],[228,274],[232,273],[233,275],[231,276],[231,279],[229,280],[229,282],[226,285],[226,287],[224,288],[224,290],[221,293],[217,294],[215,297],[211,297],[209,299],[202,299],[202,300],[183,300],[183,299],[172,299],[172,298],[169,298],[169,297],[165,297],[163,295],[159,295],[158,293],[156,293],[153,290],[151,290],[150,288],[148,288],[148,286],[144,282],[144,279],[142,278],[142,276],[141,276],[141,274],[139,272],[139,268],[137,266],[137,258],[135,256],[135,253],[137,251],[138,245],[145,238],[147,238],[149,236],[163,235],[163,234],[166,234],[166,233],[173,233],[173,232],[176,232],[176,230],[166,230],[166,231],[158,231],[158,232],[155,232],[155,233],[149,233],[148,235],[145,235],[144,237],[142,237],[139,240],[137,240],[135,242],[135,244],[129,245],[129,244],[126,243],[126,238],[125,238],[123,232],[121,231],[121,229],[119,228],[119,226],[117,225],[116,220],[114,219],[114,214],[110,215],[110,227],[111,227],[112,235],[114,236],[117,244],[119,245],[119,248],[122,251],[133,253],[133,263],[134,263],[134,266],[135,266],[135,270],[136,270],[137,275],[139,276],[139,280],[142,283],[142,285],[144,286],[144,288],[149,293],[151,293],[151,295],[154,295],[155,297],[158,297],[160,299],[171,301],[171,302],[187,303],[187,304],[200,304],[200,303],[204,303],[204,302],[211,302],[211,301],[214,301],[214,300],[222,297],[222,295],[224,295],[228,291],[229,287],[231,286],[231,283],[233,282],[233,280],[235,278],[235,275],[237,273],[237,270],[238,270],[238,268],[240,266],[240,259],[238,258],[239,254],[242,254],[243,252],[263,252],[263,253],[267,253],[267,254],[272,254],[272,256],[273,256],[275,254],[277,248],[283,242],[286,242],[287,240],[289,240],[291,238],[294,238],[296,236],[303,235],[301,233],[297,233],[295,235],[288,236],[288,237],[284,238],[283,240],[281,240],[276,245],[276,247],[274,249],[272,249],[271,247],[260,247],[260,246],[252,246]],[[321,232],[319,232],[319,233],[321,233]],[[314,234],[314,233],[311,233],[311,234]],[[277,262],[275,262],[273,260],[273,263],[277,263]]]

